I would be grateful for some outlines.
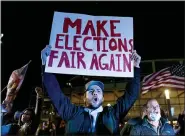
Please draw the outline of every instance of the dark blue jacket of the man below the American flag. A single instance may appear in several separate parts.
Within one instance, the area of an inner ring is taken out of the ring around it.
[[[175,132],[172,126],[164,118],[160,119],[161,127],[159,129],[159,135],[161,136],[175,136]],[[141,123],[134,126],[130,132],[131,136],[155,136],[158,135],[153,127],[148,123],[145,117]]]

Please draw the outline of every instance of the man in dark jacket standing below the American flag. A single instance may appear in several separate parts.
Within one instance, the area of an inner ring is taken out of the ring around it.
[[[154,135],[175,135],[172,126],[161,117],[160,106],[156,99],[150,99],[146,103],[146,116],[142,122],[133,127],[131,136],[154,136]]]

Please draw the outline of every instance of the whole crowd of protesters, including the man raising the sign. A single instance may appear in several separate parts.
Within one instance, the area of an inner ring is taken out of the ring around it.
[[[43,67],[50,52],[51,46],[41,51]],[[104,84],[100,81],[93,80],[85,85],[85,106],[77,106],[64,95],[55,75],[44,73],[45,90],[59,115],[57,123],[51,118],[41,120],[44,95],[40,87],[35,88],[35,108],[14,113],[12,107],[17,95],[16,86],[13,82],[8,84],[6,98],[1,104],[1,135],[184,135],[185,112],[179,115],[178,128],[173,128],[167,117],[163,116],[156,99],[149,99],[142,107],[142,116],[130,119],[120,129],[121,120],[140,95],[141,57],[133,51],[131,59],[134,61],[134,77],[128,82],[124,95],[113,106],[103,107]]]

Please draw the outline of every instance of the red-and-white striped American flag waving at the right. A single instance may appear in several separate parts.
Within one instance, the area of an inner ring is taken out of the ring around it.
[[[142,94],[147,93],[149,90],[158,89],[161,87],[184,90],[184,71],[185,66],[178,64],[145,76],[142,81]]]

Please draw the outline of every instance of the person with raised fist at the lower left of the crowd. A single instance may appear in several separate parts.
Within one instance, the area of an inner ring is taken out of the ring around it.
[[[43,92],[40,87],[35,88],[37,94],[35,110],[26,108],[19,115],[18,123],[1,126],[1,135],[34,135],[40,123],[40,115],[43,103]]]

